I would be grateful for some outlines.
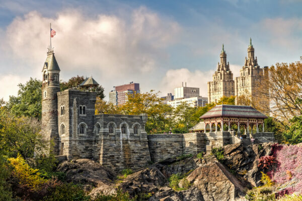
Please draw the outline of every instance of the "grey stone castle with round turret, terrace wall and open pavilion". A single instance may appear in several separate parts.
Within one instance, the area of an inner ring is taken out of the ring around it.
[[[257,125],[257,133],[251,133],[252,136],[259,142],[274,140],[274,134],[264,132],[264,127],[259,132],[258,125],[263,125],[263,119],[267,118],[265,115],[250,106],[228,109],[226,105],[220,106],[222,109],[216,106],[218,109],[214,107],[215,111],[212,109],[204,118],[201,117],[206,124],[201,121],[203,124],[199,123],[192,133],[147,135],[147,115],[95,115],[96,92],[60,91],[60,68],[52,50],[47,52],[42,75],[41,132],[46,140],[52,141],[53,152],[60,160],[88,158],[116,172],[125,168],[137,169],[151,161],[210,152],[213,147],[240,142],[240,130],[231,131],[230,123],[248,127]],[[91,77],[81,85],[98,84]],[[229,123],[228,130],[224,131],[223,126],[219,130],[219,123]],[[249,134],[248,131],[247,139]],[[249,140],[244,143],[249,143]]]

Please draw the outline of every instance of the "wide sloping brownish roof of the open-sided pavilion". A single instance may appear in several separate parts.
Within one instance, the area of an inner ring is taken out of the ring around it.
[[[266,115],[262,114],[251,106],[243,105],[216,105],[200,118],[211,118],[211,117],[243,117],[243,118],[267,118]]]

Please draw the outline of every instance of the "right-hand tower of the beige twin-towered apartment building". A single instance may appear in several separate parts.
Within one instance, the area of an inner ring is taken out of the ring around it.
[[[252,39],[250,39],[248,58],[245,58],[245,64],[240,70],[240,77],[235,78],[236,103],[237,98],[240,95],[255,96],[257,87],[260,86],[263,78],[263,69],[258,65],[257,56],[255,58],[254,51],[255,49],[252,45]],[[267,66],[264,66],[264,69],[265,68],[267,68]]]

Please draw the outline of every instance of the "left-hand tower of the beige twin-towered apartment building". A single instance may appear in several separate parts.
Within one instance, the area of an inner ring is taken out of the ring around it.
[[[230,70],[229,62],[226,63],[226,53],[224,45],[220,53],[220,63],[218,62],[217,71],[213,74],[213,81],[207,83],[208,103],[218,102],[222,96],[234,96],[235,84],[233,73]]]

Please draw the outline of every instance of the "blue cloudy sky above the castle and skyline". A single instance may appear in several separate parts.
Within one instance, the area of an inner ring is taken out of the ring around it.
[[[49,23],[60,80],[139,83],[161,95],[187,82],[207,96],[222,43],[234,77],[252,38],[261,67],[302,56],[302,0],[0,0],[0,98],[42,79]]]

